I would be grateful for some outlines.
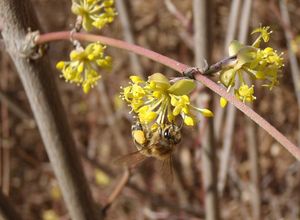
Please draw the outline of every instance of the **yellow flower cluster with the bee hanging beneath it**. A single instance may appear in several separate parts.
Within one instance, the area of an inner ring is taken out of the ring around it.
[[[164,125],[180,117],[184,124],[193,126],[197,120],[193,111],[205,117],[213,116],[210,110],[191,105],[188,95],[196,87],[192,79],[183,78],[171,84],[161,73],[152,74],[147,81],[138,76],[130,79],[130,85],[122,88],[121,97],[143,124]]]

